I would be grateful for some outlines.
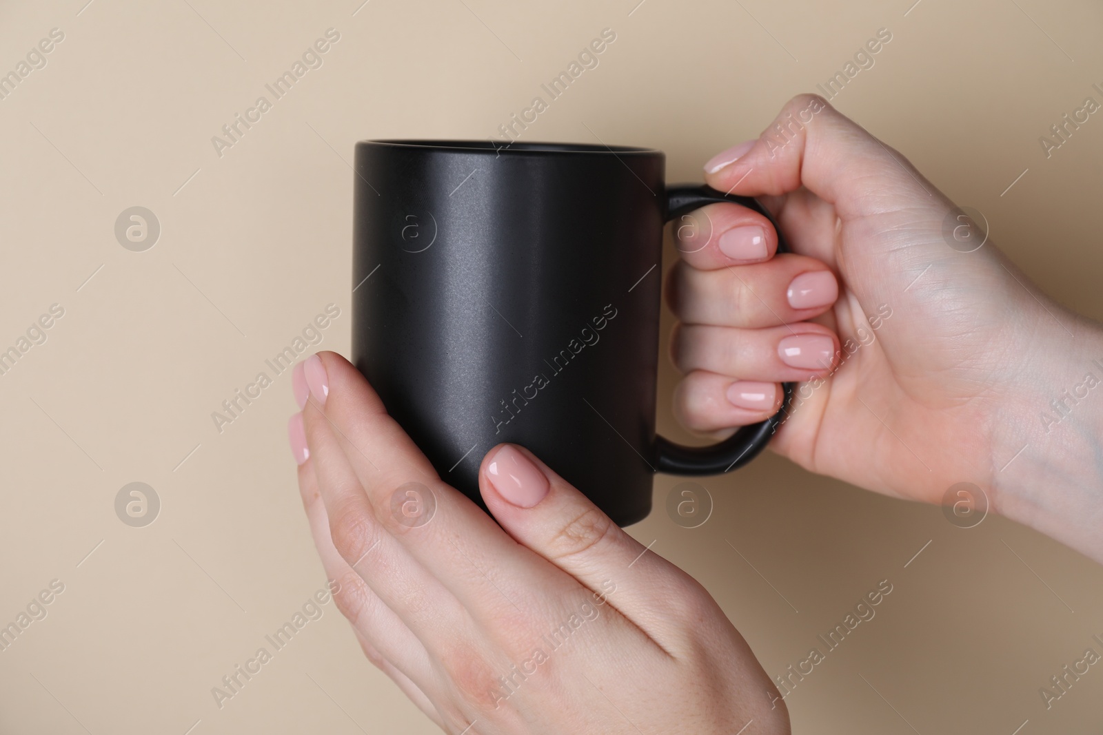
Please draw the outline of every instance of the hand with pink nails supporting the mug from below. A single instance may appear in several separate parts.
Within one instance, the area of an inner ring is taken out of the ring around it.
[[[526,450],[483,458],[499,527],[344,358],[309,358],[293,385],[299,488],[338,607],[446,732],[789,732],[708,593]]]

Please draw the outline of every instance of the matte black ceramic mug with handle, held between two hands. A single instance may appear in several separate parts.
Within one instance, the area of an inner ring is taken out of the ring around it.
[[[778,414],[719,444],[655,434],[663,224],[711,202],[770,217],[748,197],[666,188],[665,160],[574,143],[356,144],[353,364],[480,506],[482,457],[512,442],[628,526],[651,511],[653,473],[735,469],[780,423],[791,383]]]

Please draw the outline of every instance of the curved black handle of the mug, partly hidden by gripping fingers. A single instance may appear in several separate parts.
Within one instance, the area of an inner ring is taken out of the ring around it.
[[[716,202],[741,204],[748,209],[763,215],[778,233],[778,252],[789,251],[778,223],[765,207],[749,196],[725,194],[711,186],[696,184],[667,186],[664,220],[671,221],[693,209]],[[793,396],[793,383],[782,383],[782,391],[784,398],[781,402],[781,409],[775,414],[761,423],[739,428],[735,434],[719,444],[683,446],[656,435],[652,451],[655,458],[655,469],[668,475],[719,475],[743,466],[765,448],[765,445],[770,443],[770,437],[777,431],[778,424],[781,423],[782,414],[788,410]]]

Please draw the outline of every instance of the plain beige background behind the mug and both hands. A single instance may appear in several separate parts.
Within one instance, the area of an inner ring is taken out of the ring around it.
[[[1101,100],[1099,3],[636,1],[0,4],[2,72],[65,33],[0,101],[0,345],[65,310],[0,377],[0,624],[65,585],[0,652],[0,732],[436,732],[332,603],[214,705],[211,688],[324,579],[287,447],[289,376],[221,434],[210,414],[330,302],[342,314],[322,346],[347,353],[354,141],[494,134],[603,28],[618,37],[600,66],[526,137],[593,142],[588,126],[662,148],[672,181],[699,180],[888,28],[837,107],[982,210],[1049,293],[1103,316],[1103,119],[1048,160],[1038,144]],[[211,137],[328,28],[341,40],[324,65],[218,158]],[[161,223],[146,252],[114,236],[133,205]],[[663,365],[661,430],[689,441]],[[162,502],[144,528],[114,510],[135,480]],[[795,732],[1103,724],[1103,670],[1049,711],[1038,694],[1103,634],[1103,569],[1077,553],[775,456],[707,479],[715,512],[686,530],[662,509],[676,482],[657,478],[656,511],[631,532],[707,585],[771,675],[879,580],[895,585],[789,698]]]

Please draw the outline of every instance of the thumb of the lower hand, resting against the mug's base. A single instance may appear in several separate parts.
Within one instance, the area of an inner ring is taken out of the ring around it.
[[[671,620],[700,598],[697,582],[625,533],[528,450],[492,448],[479,468],[479,486],[506,533],[589,587],[599,604],[610,602],[660,645]]]

